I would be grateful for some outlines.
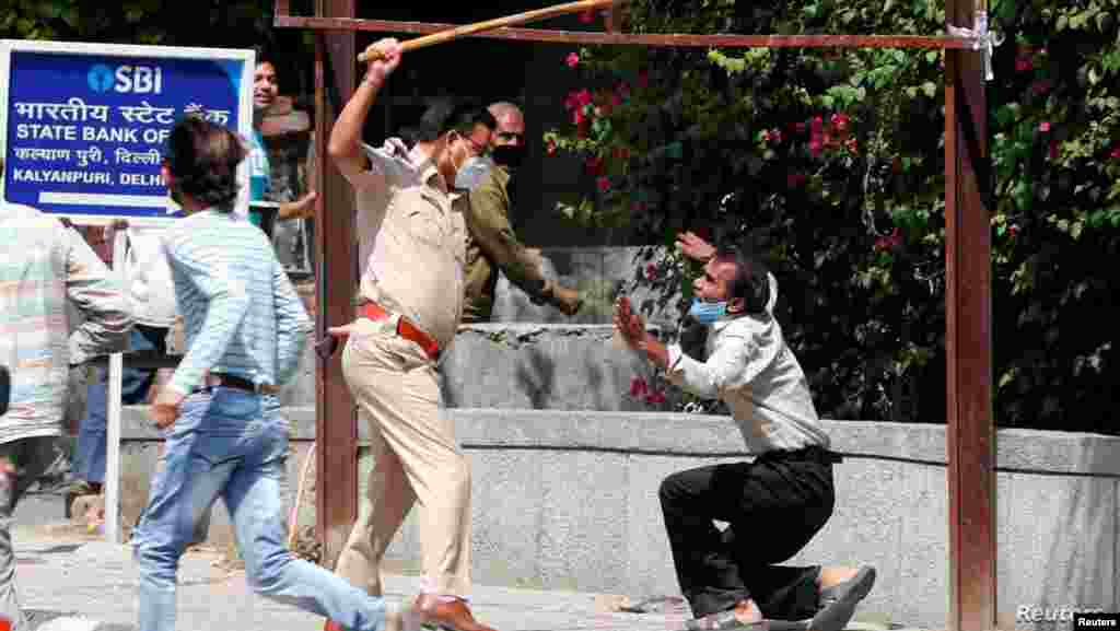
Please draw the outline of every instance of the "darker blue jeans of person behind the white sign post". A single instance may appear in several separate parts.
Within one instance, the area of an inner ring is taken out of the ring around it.
[[[133,351],[165,352],[167,328],[137,325],[130,343]],[[125,406],[144,403],[148,389],[156,381],[155,370],[125,368],[121,377],[121,402]],[[86,389],[85,417],[78,424],[76,476],[87,482],[105,481],[105,427],[109,424],[109,370],[97,369],[97,382]]]

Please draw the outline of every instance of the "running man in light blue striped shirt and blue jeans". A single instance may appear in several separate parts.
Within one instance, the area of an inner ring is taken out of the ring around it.
[[[288,424],[277,391],[298,369],[310,319],[264,233],[233,214],[245,143],[188,117],[172,129],[164,179],[187,217],[165,234],[188,351],[151,418],[165,463],[133,536],[140,566],[140,631],[172,631],[176,574],[194,526],[221,495],[249,583],[345,629],[400,624],[367,595],[283,545],[281,476]]]

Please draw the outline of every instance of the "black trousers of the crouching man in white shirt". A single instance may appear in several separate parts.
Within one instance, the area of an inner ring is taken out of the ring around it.
[[[832,516],[832,464],[839,460],[816,447],[771,452],[661,483],[676,576],[697,618],[747,598],[769,619],[812,618],[820,566],[776,564],[804,548]],[[720,532],[712,520],[730,526]]]

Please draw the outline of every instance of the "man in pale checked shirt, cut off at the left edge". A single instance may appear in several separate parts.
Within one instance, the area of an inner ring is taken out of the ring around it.
[[[11,373],[0,414],[0,620],[16,631],[29,628],[16,590],[16,504],[54,462],[69,369],[123,351],[131,328],[124,293],[81,234],[36,208],[0,206],[0,364]]]

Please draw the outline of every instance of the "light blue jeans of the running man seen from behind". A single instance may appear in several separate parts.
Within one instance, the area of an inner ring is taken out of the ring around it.
[[[284,547],[280,484],[288,425],[276,397],[208,388],[188,397],[164,432],[165,463],[133,533],[140,570],[139,631],[174,631],[179,558],[195,522],[217,500],[233,520],[253,590],[354,631],[383,631],[385,601],[295,557]]]

